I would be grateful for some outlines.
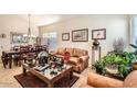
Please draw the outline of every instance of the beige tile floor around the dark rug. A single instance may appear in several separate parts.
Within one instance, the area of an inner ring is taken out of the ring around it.
[[[86,68],[81,75],[74,73],[80,77],[80,79],[73,84],[72,88],[78,88],[87,79],[87,73],[92,71],[91,68]],[[22,72],[21,67],[13,67],[12,69],[3,68],[0,63],[0,88],[22,88],[20,83],[13,78],[14,75]]]

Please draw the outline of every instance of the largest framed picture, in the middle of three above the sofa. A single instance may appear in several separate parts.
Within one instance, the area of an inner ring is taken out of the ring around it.
[[[88,29],[72,31],[72,42],[88,42]]]

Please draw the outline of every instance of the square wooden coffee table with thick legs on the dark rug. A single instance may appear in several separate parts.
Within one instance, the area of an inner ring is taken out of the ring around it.
[[[61,71],[57,71],[57,75],[50,75],[50,68],[45,71],[38,71],[34,68],[30,68],[28,64],[22,63],[23,68],[23,75],[25,76],[27,70],[30,71],[32,75],[36,76],[41,80],[43,80],[45,83],[48,83],[49,88],[54,87],[54,82],[60,80],[61,78],[65,76],[70,76],[70,79],[73,78],[73,67],[71,65],[66,65],[64,69]]]

